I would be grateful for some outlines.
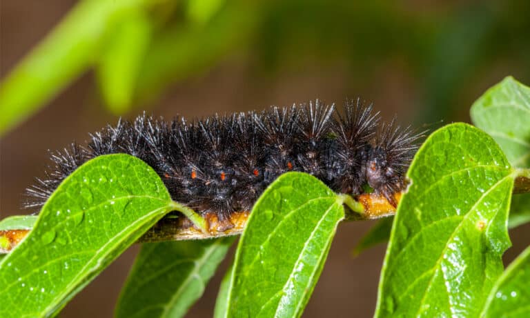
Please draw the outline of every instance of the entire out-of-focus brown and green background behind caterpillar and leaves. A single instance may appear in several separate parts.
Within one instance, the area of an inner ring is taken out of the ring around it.
[[[117,117],[372,101],[431,129],[507,75],[530,83],[530,1],[2,0],[0,216],[25,213],[47,150]],[[351,256],[373,222],[342,224],[304,317],[371,317],[384,246]],[[513,259],[529,225],[511,231]],[[61,317],[111,317],[133,246]],[[211,317],[228,257],[188,317]]]

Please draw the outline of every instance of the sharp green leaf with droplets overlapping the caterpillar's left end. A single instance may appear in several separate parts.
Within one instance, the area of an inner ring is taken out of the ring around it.
[[[47,317],[178,206],[157,173],[129,155],[79,167],[35,228],[0,262],[0,317]]]

